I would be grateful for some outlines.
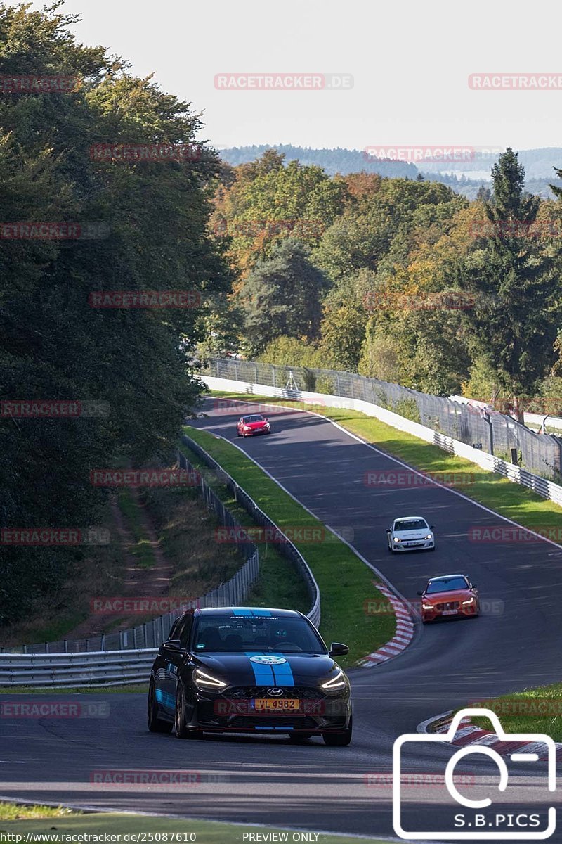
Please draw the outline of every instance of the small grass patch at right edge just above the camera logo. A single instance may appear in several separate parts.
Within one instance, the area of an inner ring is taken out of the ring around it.
[[[546,733],[554,741],[562,742],[562,683],[478,701],[471,706],[495,712],[506,733]],[[470,720],[484,730],[494,729],[488,718],[471,717]]]

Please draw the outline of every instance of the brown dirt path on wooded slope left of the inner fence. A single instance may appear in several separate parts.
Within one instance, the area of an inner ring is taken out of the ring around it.
[[[156,562],[151,568],[143,568],[137,565],[136,558],[131,553],[135,539],[127,527],[126,520],[120,511],[117,500],[112,496],[110,508],[115,526],[115,531],[112,531],[112,533],[116,537],[115,541],[120,544],[121,555],[124,561],[123,586],[117,590],[118,594],[112,592],[110,595],[100,595],[99,598],[167,597],[169,593],[169,580],[172,575],[172,565],[165,559],[162,553],[153,522],[147,512],[147,508],[139,499],[137,490],[131,490],[131,495],[136,501],[136,506],[139,508],[143,527],[153,549]],[[157,614],[160,615],[162,613],[158,612]],[[120,619],[118,625],[115,625],[116,619]],[[141,616],[136,614],[93,613],[73,630],[69,630],[65,638],[68,640],[92,638],[99,636],[107,625],[111,625],[111,632],[114,632],[135,627],[141,624],[143,620],[146,620],[146,614]]]

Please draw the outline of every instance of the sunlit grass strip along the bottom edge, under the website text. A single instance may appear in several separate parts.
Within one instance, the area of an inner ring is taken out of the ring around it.
[[[126,833],[138,835],[139,833],[168,833],[168,841],[176,834],[178,841],[190,841],[190,833],[196,836],[197,844],[240,844],[244,841],[244,832],[273,832],[281,831],[281,827],[257,827],[244,826],[239,824],[225,824],[212,820],[190,820],[189,818],[166,818],[138,814],[52,814],[48,807],[37,807],[38,811],[45,811],[45,820],[9,820],[11,814],[5,815],[4,807],[7,803],[0,803],[0,844],[19,844],[24,841],[29,833],[48,834],[49,836],[79,836],[88,834],[90,836],[115,835],[123,836]],[[18,807],[22,809],[22,807]],[[8,809],[11,812],[11,809]],[[55,810],[56,811],[56,810]],[[47,814],[49,813],[49,814]],[[8,817],[8,820],[7,820]],[[10,837],[8,837],[8,835]],[[22,836],[19,841],[13,836]],[[50,837],[50,840],[51,839]],[[68,840],[68,839],[65,839]],[[78,841],[77,838],[74,839]],[[102,839],[99,839],[103,841]],[[143,839],[148,841],[148,838]],[[162,841],[162,838],[153,840]],[[264,838],[262,841],[266,840]],[[291,833],[289,833],[291,840]],[[248,839],[246,839],[248,841]],[[347,836],[318,836],[318,841],[325,841],[326,844],[352,844],[356,838]],[[378,838],[367,838],[362,841],[371,841],[371,844],[383,844]]]

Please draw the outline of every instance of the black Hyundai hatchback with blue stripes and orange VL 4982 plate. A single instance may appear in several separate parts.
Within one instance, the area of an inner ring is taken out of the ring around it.
[[[321,735],[351,742],[350,683],[318,630],[289,609],[191,609],[174,622],[150,673],[148,729]]]

